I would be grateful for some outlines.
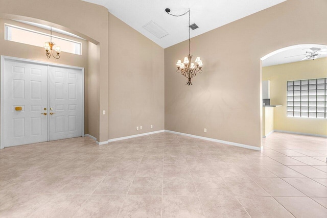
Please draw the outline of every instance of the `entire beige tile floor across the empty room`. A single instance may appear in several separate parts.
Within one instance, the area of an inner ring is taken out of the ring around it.
[[[0,150],[0,217],[327,217],[327,138],[262,152],[159,133]]]

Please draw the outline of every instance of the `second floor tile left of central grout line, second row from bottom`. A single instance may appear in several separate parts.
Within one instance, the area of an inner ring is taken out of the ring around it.
[[[94,195],[127,195],[133,177],[107,176],[94,191]]]

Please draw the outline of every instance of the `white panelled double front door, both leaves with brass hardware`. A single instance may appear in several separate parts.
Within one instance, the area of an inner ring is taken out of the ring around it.
[[[81,69],[6,59],[2,147],[83,135]]]

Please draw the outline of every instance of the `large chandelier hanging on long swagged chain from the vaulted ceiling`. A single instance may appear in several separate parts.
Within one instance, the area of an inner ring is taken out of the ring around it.
[[[188,11],[186,11],[185,13],[181,14],[181,15],[174,15],[174,14],[170,14],[170,9],[169,8],[166,8],[166,12],[169,14],[169,15],[172,15],[172,16],[175,16],[175,17],[180,17],[180,16],[183,16],[187,13],[189,13],[189,55],[188,57],[184,57],[184,61],[181,62],[181,60],[178,60],[177,61],[177,70],[176,72],[178,74],[181,74],[183,75],[184,77],[188,78],[189,81],[186,83],[186,85],[193,85],[192,82],[191,82],[191,79],[193,77],[196,76],[196,74],[199,72],[200,74],[202,73],[202,61],[199,57],[197,57],[195,59],[195,63],[192,63],[191,60],[192,60],[192,55],[191,55],[191,32],[190,32],[190,21],[191,21],[191,15],[190,15],[190,9]]]

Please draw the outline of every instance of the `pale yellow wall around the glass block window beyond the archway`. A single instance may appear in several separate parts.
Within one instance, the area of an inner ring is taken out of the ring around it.
[[[327,58],[263,67],[263,80],[270,80],[270,104],[274,130],[327,136],[327,119],[287,117],[287,81],[327,78]]]

